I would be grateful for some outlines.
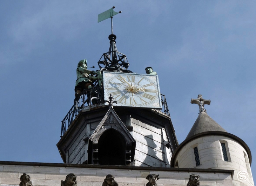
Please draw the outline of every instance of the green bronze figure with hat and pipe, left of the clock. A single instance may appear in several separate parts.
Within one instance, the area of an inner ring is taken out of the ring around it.
[[[78,96],[83,89],[89,89],[93,87],[93,83],[89,79],[89,74],[94,73],[91,70],[87,70],[86,59],[79,61],[78,68],[76,68],[77,80],[75,82],[75,96]]]

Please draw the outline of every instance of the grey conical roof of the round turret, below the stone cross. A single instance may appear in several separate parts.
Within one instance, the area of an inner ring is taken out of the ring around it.
[[[222,128],[219,124],[217,124],[216,121],[211,119],[211,117],[208,116],[206,112],[201,112],[198,115],[193,127],[189,131],[186,139],[196,134],[203,133],[203,132],[210,132],[210,131],[227,132],[225,131],[224,128]]]

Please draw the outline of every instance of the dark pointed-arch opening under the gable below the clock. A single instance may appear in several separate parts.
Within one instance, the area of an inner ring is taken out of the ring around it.
[[[98,141],[100,165],[125,165],[126,140],[115,129],[104,132]]]

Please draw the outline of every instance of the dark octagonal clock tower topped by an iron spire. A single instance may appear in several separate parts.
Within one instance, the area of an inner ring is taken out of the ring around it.
[[[158,75],[128,70],[113,30],[108,38],[109,51],[98,61],[99,70],[87,70],[87,63],[78,66],[82,76],[57,143],[63,162],[170,167],[178,141]]]

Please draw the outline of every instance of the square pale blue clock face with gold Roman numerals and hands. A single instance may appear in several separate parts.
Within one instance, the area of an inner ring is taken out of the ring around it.
[[[116,106],[162,109],[157,75],[103,72],[103,86],[104,99],[112,94]]]

